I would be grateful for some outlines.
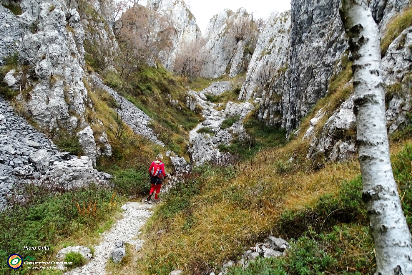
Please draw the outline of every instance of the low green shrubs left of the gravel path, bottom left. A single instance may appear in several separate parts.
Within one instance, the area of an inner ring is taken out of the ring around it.
[[[0,212],[1,259],[13,253],[37,261],[47,259],[62,240],[76,234],[86,236],[111,219],[121,200],[109,186],[95,183],[66,191],[43,181],[39,185],[26,185],[22,195],[24,201],[12,197],[14,206]],[[50,250],[23,251],[28,244],[36,247],[47,244]],[[10,270],[6,261],[0,263],[1,274],[9,274]]]

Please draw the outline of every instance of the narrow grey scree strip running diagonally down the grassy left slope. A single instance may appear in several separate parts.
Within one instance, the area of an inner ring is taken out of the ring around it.
[[[119,93],[117,93],[114,89],[105,85],[96,73],[91,74],[90,78],[92,80],[92,84],[108,92],[108,94],[113,96],[113,98],[116,100],[117,104],[121,106],[121,109],[119,108],[116,111],[122,117],[124,123],[126,123],[133,130],[133,132],[145,136],[150,141],[159,144],[162,147],[165,147],[164,143],[157,139],[157,136],[155,135],[153,130],[147,126],[151,120],[151,118],[148,115],[146,115],[133,103],[131,103],[123,96],[121,96]]]

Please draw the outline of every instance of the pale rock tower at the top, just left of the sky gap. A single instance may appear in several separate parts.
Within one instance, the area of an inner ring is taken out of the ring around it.
[[[160,15],[165,16],[169,25],[174,28],[171,48],[159,54],[162,65],[169,71],[173,71],[176,54],[182,50],[183,45],[202,35],[196,18],[183,0],[149,0],[147,8],[156,10]]]

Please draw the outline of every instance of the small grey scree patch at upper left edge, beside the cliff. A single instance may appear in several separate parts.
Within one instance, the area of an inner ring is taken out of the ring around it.
[[[19,49],[21,31],[19,21],[8,9],[0,5],[0,65],[3,59]]]

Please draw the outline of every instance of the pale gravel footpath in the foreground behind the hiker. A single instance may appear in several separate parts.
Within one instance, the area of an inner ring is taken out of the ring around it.
[[[95,252],[91,261],[86,265],[75,268],[65,273],[66,275],[104,275],[106,263],[117,241],[136,246],[142,244],[143,240],[136,240],[135,237],[139,229],[147,219],[152,215],[151,204],[142,204],[138,202],[127,202],[122,206],[123,219],[117,221],[109,231],[103,233],[103,240],[100,244],[94,246]]]

